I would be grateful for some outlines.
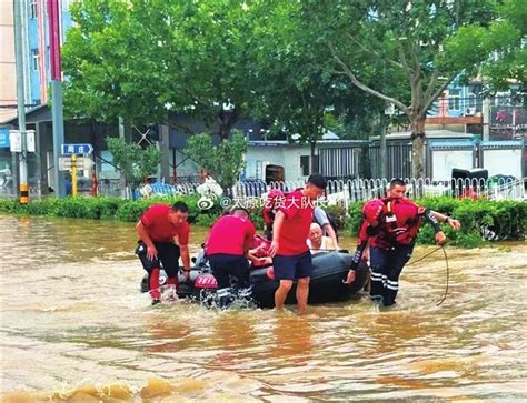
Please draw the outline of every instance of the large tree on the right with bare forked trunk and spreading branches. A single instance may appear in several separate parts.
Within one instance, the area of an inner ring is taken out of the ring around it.
[[[331,32],[328,46],[340,73],[357,88],[406,114],[412,175],[424,177],[425,120],[458,75],[476,75],[494,51],[515,47],[519,31],[498,19],[499,0],[312,1]],[[371,70],[392,85],[371,80]]]

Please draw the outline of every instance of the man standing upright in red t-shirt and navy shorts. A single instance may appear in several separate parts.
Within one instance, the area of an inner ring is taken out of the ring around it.
[[[298,313],[306,313],[312,272],[311,253],[306,239],[312,222],[314,201],[324,194],[326,185],[324,177],[311,174],[304,189],[297,189],[286,195],[275,215],[269,254],[272,256],[275,279],[280,281],[275,292],[277,310],[284,309],[292,282],[298,279]]]

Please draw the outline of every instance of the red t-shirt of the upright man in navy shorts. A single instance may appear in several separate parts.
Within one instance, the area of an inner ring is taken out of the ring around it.
[[[296,256],[309,252],[306,240],[312,222],[315,203],[296,190],[286,195],[279,210],[286,214],[280,230],[278,255]]]

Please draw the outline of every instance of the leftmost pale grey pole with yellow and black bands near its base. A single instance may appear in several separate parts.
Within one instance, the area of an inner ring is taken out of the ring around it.
[[[20,203],[29,203],[28,187],[28,151],[26,138],[26,108],[23,97],[23,56],[22,56],[22,2],[13,0],[14,11],[14,54],[17,69],[17,108],[18,108],[18,130],[21,135],[22,151],[20,155]]]

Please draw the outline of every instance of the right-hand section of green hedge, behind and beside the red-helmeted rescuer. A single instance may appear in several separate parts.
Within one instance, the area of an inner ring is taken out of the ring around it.
[[[460,231],[454,231],[450,225],[441,224],[448,242],[451,244],[475,248],[485,244],[487,240],[525,240],[527,228],[527,203],[525,201],[436,197],[418,199],[416,203],[461,222]],[[352,236],[357,235],[362,221],[360,213],[362,205],[364,203],[354,203],[348,211],[346,230]],[[419,243],[434,244],[431,225],[425,223],[417,240]]]

